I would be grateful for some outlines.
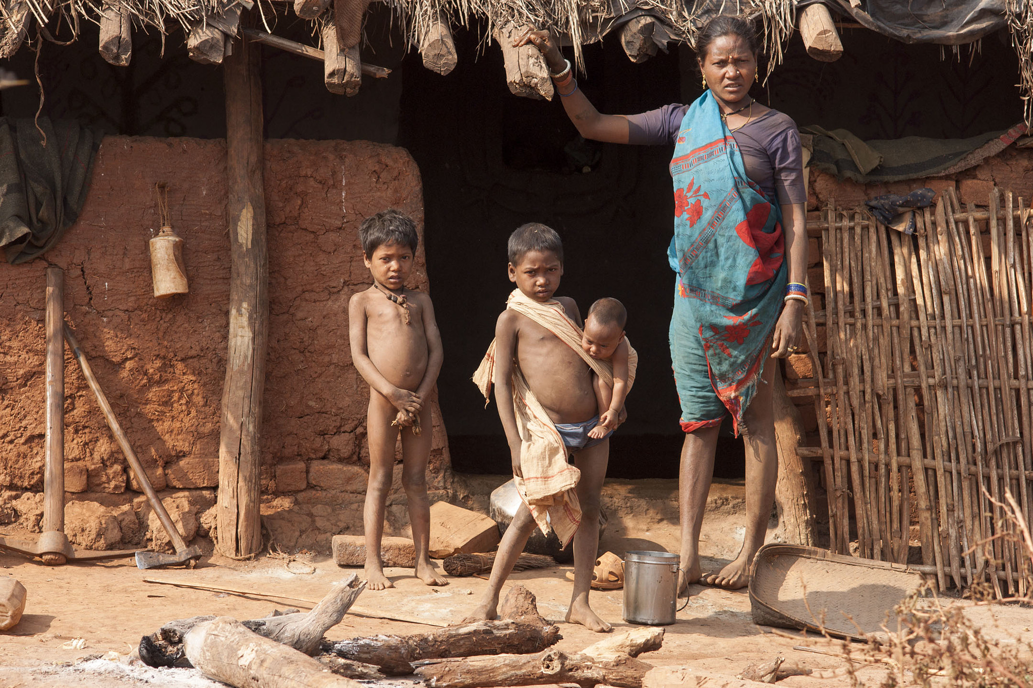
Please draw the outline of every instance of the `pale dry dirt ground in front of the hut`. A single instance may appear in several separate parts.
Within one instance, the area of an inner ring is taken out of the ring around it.
[[[480,489],[497,482],[499,479],[494,478],[471,480],[481,495],[484,493]],[[623,553],[643,549],[644,545],[664,547],[676,543],[677,520],[671,516],[677,506],[669,498],[676,490],[674,481],[616,481],[607,485],[604,504],[608,504],[611,520],[602,540],[604,549]],[[635,495],[637,498],[632,502],[630,498]],[[741,536],[741,486],[715,485],[703,526],[708,535],[702,542],[707,555],[705,567],[721,565],[734,555],[737,533]],[[638,537],[628,537],[628,531]],[[274,609],[304,609],[311,604],[299,600],[318,600],[350,570],[338,567],[328,556],[305,553],[289,567],[287,559],[264,556],[253,562],[213,558],[202,560],[193,570],[151,571],[138,570],[131,559],[48,567],[25,557],[0,554],[0,576],[17,578],[28,590],[21,623],[10,631],[0,632],[0,688],[219,685],[194,670],[151,669],[138,661],[132,663],[129,656],[142,635],[153,632],[166,621],[201,614],[252,619]],[[556,566],[518,572],[512,576],[511,584],[527,586],[537,596],[542,616],[560,625],[563,640],[557,647],[578,651],[599,636],[582,626],[563,622],[570,595],[570,582],[565,578],[568,570],[568,566]],[[471,577],[452,578],[447,587],[428,588],[408,569],[393,568],[387,575],[397,587],[364,592],[352,613],[332,628],[327,637],[412,633],[455,623],[475,605],[487,585],[487,581]],[[230,587],[254,594],[193,590],[149,583],[151,580]],[[834,643],[818,636],[784,637],[755,625],[745,590],[699,586],[690,590],[691,598],[678,613],[677,623],[666,627],[663,647],[643,655],[643,660],[658,666],[688,665],[725,676],[735,676],[750,664],[771,661],[776,656],[785,657],[786,666],[836,669],[845,665],[844,660],[834,656],[793,649],[809,645],[835,652]],[[622,621],[622,600],[620,590],[592,593],[595,610],[618,629],[630,625]],[[992,614],[984,610],[982,614]],[[367,616],[370,614],[424,620],[426,624]],[[1033,623],[1033,613],[1028,610],[1004,608],[1001,614],[1011,615],[1005,624],[1011,629]],[[81,649],[70,647],[76,638],[85,642]],[[863,666],[858,676],[868,685],[878,685],[884,670]],[[396,681],[392,685],[412,685],[412,682]],[[843,686],[848,685],[848,679],[797,676],[786,678],[779,685]]]

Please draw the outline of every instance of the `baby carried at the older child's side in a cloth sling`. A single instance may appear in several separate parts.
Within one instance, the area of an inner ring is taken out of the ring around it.
[[[624,326],[628,312],[615,298],[601,298],[592,304],[585,317],[582,350],[592,358],[609,361],[614,366],[614,384],[607,385],[599,375],[592,375],[595,398],[599,404],[599,422],[588,436],[600,439],[620,425],[618,416],[628,396],[628,340]]]

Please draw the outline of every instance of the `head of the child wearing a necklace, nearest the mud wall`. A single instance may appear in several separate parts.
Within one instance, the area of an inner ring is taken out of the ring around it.
[[[373,279],[388,289],[403,289],[419,243],[412,218],[394,208],[377,212],[359,225],[358,239]]]

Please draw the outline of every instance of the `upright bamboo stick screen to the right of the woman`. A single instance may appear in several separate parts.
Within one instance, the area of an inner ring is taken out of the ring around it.
[[[941,589],[1003,596],[1031,576],[1006,515],[1011,495],[1030,523],[1033,211],[989,201],[963,209],[948,190],[913,236],[824,212],[825,309],[807,324],[820,447],[801,453],[823,459],[834,552],[852,507],[860,556],[904,563],[917,535]]]

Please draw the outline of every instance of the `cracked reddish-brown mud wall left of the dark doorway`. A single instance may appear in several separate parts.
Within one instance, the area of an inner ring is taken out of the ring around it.
[[[328,547],[362,531],[368,388],[351,364],[347,303],[369,284],[357,229],[387,207],[422,227],[409,154],[370,142],[265,146],[270,327],[262,418],[262,514],[284,547]],[[107,137],[80,221],[31,264],[0,265],[0,526],[38,531],[44,427],[48,263],[65,271],[65,313],[154,487],[189,537],[211,534],[226,356],[229,239],[222,140]],[[168,184],[190,293],[156,299],[148,239],[154,186]],[[427,289],[422,247],[413,287]],[[68,531],[80,547],[161,544],[160,526],[70,353],[65,357]],[[435,413],[429,481],[449,463]],[[401,466],[399,466],[399,469]],[[440,494],[439,494],[440,496]],[[388,531],[407,523],[393,494]]]

